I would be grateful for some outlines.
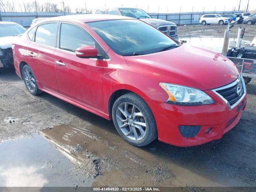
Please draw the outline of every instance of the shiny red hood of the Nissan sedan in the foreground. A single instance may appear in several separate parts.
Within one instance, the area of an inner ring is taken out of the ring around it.
[[[172,50],[141,56],[124,56],[128,66],[151,73],[159,82],[209,90],[239,76],[235,64],[221,54],[182,45]]]

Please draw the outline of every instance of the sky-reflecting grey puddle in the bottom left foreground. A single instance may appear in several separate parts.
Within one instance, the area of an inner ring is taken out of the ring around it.
[[[0,144],[0,186],[91,186],[72,162],[39,134]]]

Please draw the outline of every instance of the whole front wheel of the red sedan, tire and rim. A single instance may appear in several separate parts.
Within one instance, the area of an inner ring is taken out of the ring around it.
[[[120,96],[114,102],[112,118],[117,132],[129,144],[141,147],[157,138],[152,111],[137,94]]]

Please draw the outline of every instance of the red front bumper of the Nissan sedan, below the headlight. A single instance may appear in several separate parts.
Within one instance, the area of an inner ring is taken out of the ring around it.
[[[232,108],[212,90],[205,91],[215,104],[203,106],[178,106],[163,102],[151,102],[150,108],[158,127],[158,140],[181,147],[197,146],[222,138],[240,120],[246,106],[247,94]],[[201,126],[196,136],[184,137],[179,126]],[[208,128],[210,132],[205,133]]]

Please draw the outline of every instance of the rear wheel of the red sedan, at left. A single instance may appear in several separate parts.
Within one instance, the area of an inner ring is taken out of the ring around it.
[[[26,78],[28,72],[29,72],[29,75],[31,76],[31,79]],[[40,89],[38,89],[38,86],[36,84],[36,77],[34,76],[34,73],[32,72],[30,66],[28,66],[28,65],[23,66],[22,76],[23,76],[23,80],[24,80],[24,83],[25,83],[25,86],[26,86],[27,90],[32,95],[38,95],[38,94],[41,94],[43,92]],[[32,87],[32,83],[33,83],[34,87]]]

